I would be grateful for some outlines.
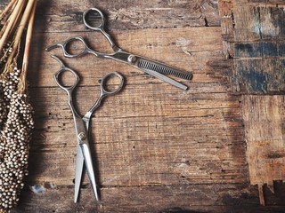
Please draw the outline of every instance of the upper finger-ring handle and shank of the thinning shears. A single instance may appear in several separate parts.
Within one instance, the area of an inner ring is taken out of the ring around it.
[[[99,14],[99,15],[98,15]],[[90,19],[88,19],[90,17]],[[99,20],[95,24],[91,24],[90,20]],[[95,31],[100,31],[107,38],[113,51],[119,51],[118,46],[113,42],[111,36],[105,31],[105,17],[104,14],[97,8],[90,8],[83,12],[83,22],[87,28],[93,29]],[[99,23],[99,24],[98,24]]]

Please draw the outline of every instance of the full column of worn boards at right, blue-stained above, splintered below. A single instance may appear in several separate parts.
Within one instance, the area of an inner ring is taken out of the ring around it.
[[[240,106],[250,183],[258,185],[265,205],[264,185],[274,192],[273,181],[284,179],[278,154],[284,152],[284,3],[223,1],[220,6],[224,54],[228,59],[233,56],[232,92],[243,94]]]

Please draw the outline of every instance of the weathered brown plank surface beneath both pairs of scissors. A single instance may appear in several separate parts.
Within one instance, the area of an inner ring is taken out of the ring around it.
[[[250,103],[259,102],[255,95],[241,96],[246,91],[234,90],[237,83],[231,80],[232,75],[242,79],[233,68],[232,4],[39,0],[28,68],[36,129],[29,176],[14,212],[284,211],[280,181],[274,183],[275,194],[264,186],[265,206],[260,205],[259,182],[250,185],[247,128],[254,129],[258,121],[258,114],[250,119]],[[189,90],[110,59],[64,59],[61,50],[46,52],[47,45],[71,36],[84,36],[92,47],[110,50],[103,36],[83,25],[82,12],[90,7],[107,16],[107,30],[123,50],[191,72],[192,81],[182,81]],[[53,81],[59,64],[51,54],[81,76],[77,108],[82,114],[97,98],[102,75],[118,71],[126,77],[124,90],[106,99],[92,121],[99,202],[85,176],[80,200],[73,203],[77,142],[67,96]],[[279,103],[278,109],[284,106],[281,93],[271,102]],[[276,116],[283,115],[280,111]]]

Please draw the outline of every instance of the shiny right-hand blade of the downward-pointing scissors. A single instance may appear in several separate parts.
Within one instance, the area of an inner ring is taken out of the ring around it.
[[[95,181],[95,173],[94,173],[94,167],[92,162],[92,157],[90,153],[90,148],[88,145],[88,142],[83,142],[79,144],[81,148],[81,152],[84,157],[85,167],[87,170],[87,174],[91,183],[92,190],[95,195],[96,201],[99,201],[98,193],[97,193],[97,187],[96,187],[96,181]]]

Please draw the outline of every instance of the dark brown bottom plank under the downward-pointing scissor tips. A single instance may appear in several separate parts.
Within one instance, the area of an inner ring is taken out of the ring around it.
[[[45,183],[43,186],[46,189],[44,193],[23,191],[22,202],[16,212],[282,212],[274,203],[282,203],[284,199],[284,193],[278,200],[265,189],[269,205],[258,206],[256,187],[242,184],[141,185],[102,188],[102,201],[96,204],[87,185],[82,189],[80,202],[74,204],[71,185],[54,185],[51,188],[49,183]],[[278,184],[278,188],[284,192],[284,185]],[[66,194],[64,198],[62,194]],[[132,199],[126,201],[124,198],[128,196]],[[38,205],[44,198],[45,203]],[[53,200],[59,202],[54,203]]]

